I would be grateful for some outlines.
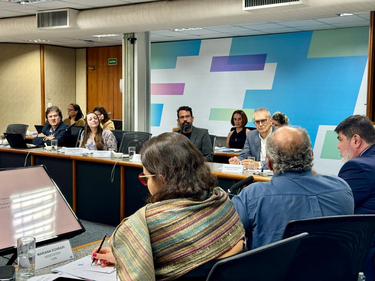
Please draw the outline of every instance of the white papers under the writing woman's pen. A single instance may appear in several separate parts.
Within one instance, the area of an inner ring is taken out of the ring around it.
[[[77,277],[94,281],[115,281],[117,280],[116,270],[112,273],[97,272],[88,270],[91,266],[91,255],[75,260],[67,265],[52,269],[53,272],[65,272]]]

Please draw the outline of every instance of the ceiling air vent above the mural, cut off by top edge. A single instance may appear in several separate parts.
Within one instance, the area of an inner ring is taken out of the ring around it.
[[[252,13],[275,12],[308,7],[309,0],[242,0],[242,10]]]

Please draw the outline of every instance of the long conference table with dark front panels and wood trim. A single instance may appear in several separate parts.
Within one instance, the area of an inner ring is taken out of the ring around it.
[[[83,220],[117,226],[146,204],[149,192],[138,179],[141,163],[129,158],[97,158],[92,154],[65,155],[44,148],[0,147],[0,169],[43,164],[77,216]],[[249,173],[223,173],[222,163],[209,163],[218,186],[228,190]],[[254,175],[254,181],[271,177]],[[96,211],[93,211],[95,206]]]

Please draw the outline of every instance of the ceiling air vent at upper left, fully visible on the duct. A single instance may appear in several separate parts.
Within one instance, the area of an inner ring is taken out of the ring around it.
[[[37,29],[77,29],[78,10],[58,9],[36,12]]]

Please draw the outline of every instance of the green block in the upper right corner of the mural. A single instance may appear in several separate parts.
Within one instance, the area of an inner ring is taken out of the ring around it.
[[[308,58],[368,55],[369,27],[317,30],[312,33]]]

